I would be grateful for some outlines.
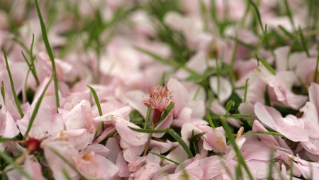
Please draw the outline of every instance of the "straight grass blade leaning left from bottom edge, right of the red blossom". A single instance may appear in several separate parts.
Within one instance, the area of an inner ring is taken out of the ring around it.
[[[223,127],[225,129],[225,133],[226,133],[226,135],[228,137],[228,140],[230,141],[230,144],[233,145],[233,148],[234,148],[234,150],[235,150],[235,152],[237,154],[238,163],[241,164],[244,167],[244,169],[246,170],[246,172],[247,172],[248,176],[250,177],[250,179],[253,180],[254,178],[252,177],[252,174],[250,173],[250,169],[248,169],[248,167],[247,167],[247,164],[245,162],[244,157],[242,157],[242,153],[240,152],[240,150],[239,150],[239,148],[238,148],[238,146],[237,146],[237,144],[236,144],[236,142],[235,142],[235,140],[233,138],[233,134],[232,134],[232,132],[231,132],[229,126],[228,126],[228,123],[226,122],[225,117],[220,116],[220,120],[221,120],[221,123],[223,124]]]

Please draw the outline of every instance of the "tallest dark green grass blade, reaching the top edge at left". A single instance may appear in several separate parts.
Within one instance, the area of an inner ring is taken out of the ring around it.
[[[55,58],[53,57],[50,43],[49,43],[49,40],[47,39],[47,32],[45,29],[45,23],[43,22],[43,18],[42,18],[37,0],[35,0],[35,6],[37,8],[37,12],[38,12],[39,20],[40,20],[43,41],[45,43],[45,48],[47,49],[47,55],[49,55],[51,63],[52,63],[52,74],[54,75],[53,81],[55,84],[55,102],[57,103],[57,108],[59,108],[60,107],[60,99],[59,99],[59,88],[57,86],[57,74],[56,74],[56,70],[55,70]]]

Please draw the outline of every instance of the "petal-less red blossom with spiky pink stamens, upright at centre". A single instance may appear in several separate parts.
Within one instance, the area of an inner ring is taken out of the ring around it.
[[[164,85],[153,89],[152,86],[149,86],[150,89],[150,99],[143,100],[145,106],[152,108],[153,112],[153,123],[158,123],[159,118],[161,118],[163,111],[169,106],[169,103],[172,101],[172,96],[169,93],[169,90]]]

